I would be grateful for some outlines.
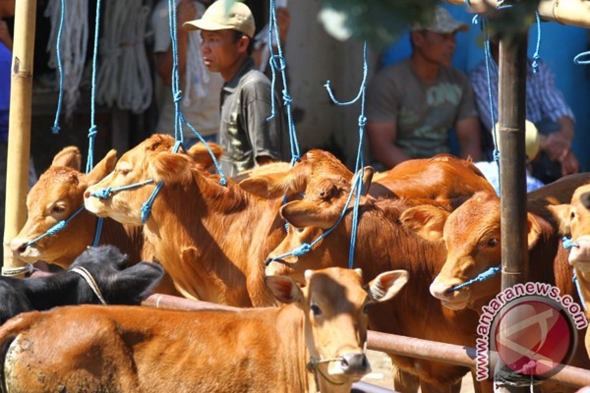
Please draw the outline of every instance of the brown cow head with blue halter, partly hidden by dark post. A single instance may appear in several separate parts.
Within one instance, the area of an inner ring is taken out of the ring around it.
[[[527,219],[530,248],[539,238],[540,223],[530,213]],[[400,220],[427,240],[444,240],[447,260],[430,286],[432,296],[440,299],[444,306],[454,310],[468,305],[478,308],[499,292],[499,274],[451,290],[501,263],[500,199],[496,194],[476,193],[453,213],[433,206],[411,207],[402,213]]]

